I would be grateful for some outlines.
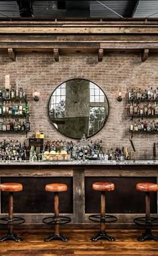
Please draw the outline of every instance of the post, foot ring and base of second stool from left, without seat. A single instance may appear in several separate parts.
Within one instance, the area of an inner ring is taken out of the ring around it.
[[[59,225],[66,224],[70,221],[71,221],[71,219],[69,217],[59,215],[59,196],[58,196],[58,192],[54,192],[54,216],[43,219],[43,222],[45,224],[55,225],[54,235],[52,235],[50,237],[46,237],[46,239],[44,239],[44,241],[46,241],[46,242],[50,242],[52,240],[61,240],[64,242],[68,241],[67,237],[63,237],[60,234]]]

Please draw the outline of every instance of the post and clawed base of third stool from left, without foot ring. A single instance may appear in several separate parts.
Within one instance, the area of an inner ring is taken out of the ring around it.
[[[105,239],[108,241],[114,241],[114,237],[109,237],[105,232],[105,192],[101,192],[100,201],[100,232],[95,237],[92,237],[92,241],[97,241],[98,239]]]

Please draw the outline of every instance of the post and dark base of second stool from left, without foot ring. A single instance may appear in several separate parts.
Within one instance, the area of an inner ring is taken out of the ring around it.
[[[47,237],[46,239],[44,239],[44,241],[49,242],[52,240],[62,240],[64,242],[68,241],[67,237],[63,237],[62,235],[60,235],[60,225],[59,223],[59,195],[58,192],[54,192],[54,235],[52,235],[51,237]]]

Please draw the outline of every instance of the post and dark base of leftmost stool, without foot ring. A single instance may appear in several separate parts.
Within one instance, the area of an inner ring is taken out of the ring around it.
[[[9,224],[8,224],[8,233],[5,237],[0,239],[0,242],[3,241],[21,241],[20,237],[17,237],[13,234],[13,192],[9,192]]]

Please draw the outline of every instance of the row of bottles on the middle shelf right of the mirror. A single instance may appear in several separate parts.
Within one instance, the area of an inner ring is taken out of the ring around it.
[[[127,106],[128,115],[158,115],[158,103],[130,103]]]

